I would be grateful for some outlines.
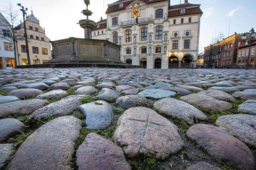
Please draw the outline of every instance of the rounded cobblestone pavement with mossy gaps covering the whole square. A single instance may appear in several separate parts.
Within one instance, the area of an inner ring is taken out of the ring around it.
[[[255,169],[256,71],[0,70],[0,169]]]

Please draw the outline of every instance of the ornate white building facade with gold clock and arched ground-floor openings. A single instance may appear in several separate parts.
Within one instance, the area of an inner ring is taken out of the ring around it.
[[[170,6],[168,0],[119,0],[108,5],[107,19],[97,22],[93,39],[121,45],[124,63],[144,68],[195,68],[200,5]]]

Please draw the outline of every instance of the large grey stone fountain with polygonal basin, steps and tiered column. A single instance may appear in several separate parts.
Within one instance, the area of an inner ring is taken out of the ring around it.
[[[121,46],[108,40],[92,39],[92,29],[96,23],[88,19],[92,11],[88,10],[89,0],[84,0],[86,9],[82,13],[87,16],[80,20],[80,27],[84,29],[84,39],[69,37],[56,41],[50,41],[52,45],[52,58],[37,65],[21,65],[18,68],[47,68],[47,67],[117,67],[117,68],[141,68],[137,65],[127,65],[120,60]]]

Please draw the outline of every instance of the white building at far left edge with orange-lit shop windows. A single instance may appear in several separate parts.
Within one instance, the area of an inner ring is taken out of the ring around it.
[[[3,17],[1,13],[0,22],[9,24],[9,22]],[[9,40],[11,39],[12,31],[8,28],[9,26],[4,25],[0,27],[0,69],[8,69],[15,67],[13,43]]]

